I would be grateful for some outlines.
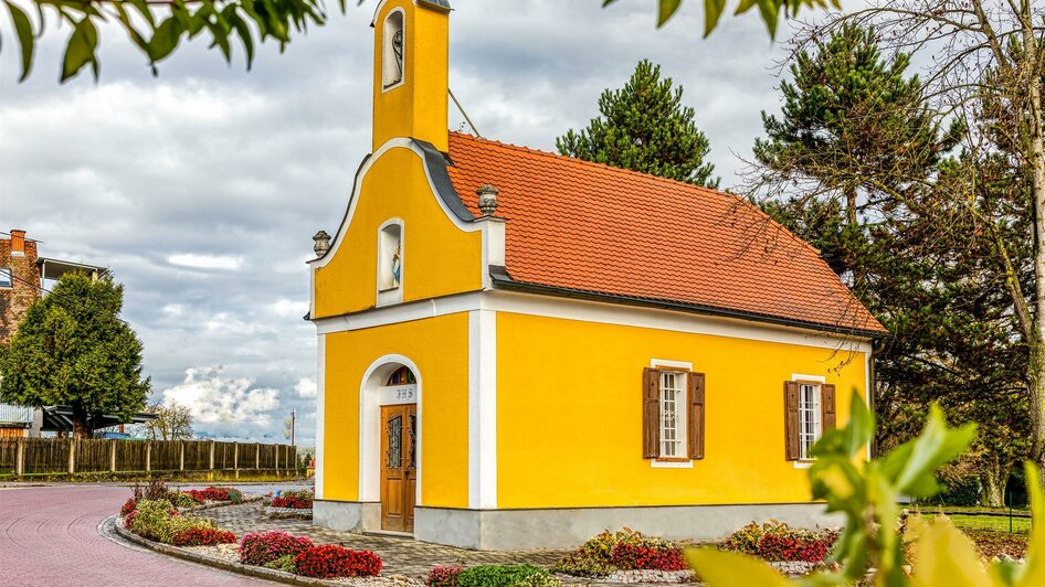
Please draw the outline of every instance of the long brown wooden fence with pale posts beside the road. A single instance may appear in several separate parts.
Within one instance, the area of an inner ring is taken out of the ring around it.
[[[288,471],[297,447],[213,440],[0,438],[0,474]]]

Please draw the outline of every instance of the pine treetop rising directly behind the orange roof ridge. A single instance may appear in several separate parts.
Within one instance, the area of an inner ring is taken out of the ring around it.
[[[556,147],[585,161],[717,188],[715,167],[705,162],[708,139],[682,97],[683,88],[673,88],[671,77],[661,79],[659,65],[643,60],[622,89],[602,93],[602,116],[580,132],[568,130]]]

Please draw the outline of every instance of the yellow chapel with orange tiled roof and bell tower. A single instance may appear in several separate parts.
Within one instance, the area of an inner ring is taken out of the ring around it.
[[[448,13],[379,3],[373,152],[315,237],[316,522],[514,548],[827,520],[809,449],[885,329],[741,198],[447,132]]]

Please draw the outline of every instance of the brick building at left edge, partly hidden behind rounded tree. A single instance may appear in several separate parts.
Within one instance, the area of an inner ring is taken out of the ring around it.
[[[45,285],[78,270],[97,278],[107,269],[39,256],[38,242],[25,231],[0,233],[0,345],[10,342],[32,302],[45,294]],[[48,430],[45,414],[24,406],[0,404],[0,437],[39,436]],[[53,428],[51,428],[53,429]]]

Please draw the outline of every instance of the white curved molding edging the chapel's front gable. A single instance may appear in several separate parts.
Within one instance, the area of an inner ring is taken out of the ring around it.
[[[373,164],[392,149],[407,149],[421,159],[421,164],[424,169],[424,175],[429,182],[429,190],[435,198],[435,201],[439,203],[440,209],[443,211],[446,217],[454,223],[454,226],[465,233],[474,233],[476,231],[481,231],[483,233],[482,262],[479,263],[479,267],[477,267],[476,270],[479,271],[481,284],[483,284],[484,288],[490,287],[490,265],[504,265],[504,218],[495,216],[475,217],[471,212],[468,212],[464,203],[461,202],[461,198],[457,195],[457,192],[454,191],[453,183],[450,182],[450,177],[446,173],[445,158],[442,153],[435,150],[434,147],[426,142],[405,137],[389,139],[384,142],[384,145],[379,147],[378,150],[367,156],[362,163],[360,163],[359,170],[356,172],[356,180],[352,186],[351,196],[349,199],[348,209],[345,211],[345,216],[341,218],[341,224],[338,226],[337,234],[334,236],[334,243],[330,245],[329,250],[327,250],[324,256],[308,262],[312,281],[308,302],[309,318],[315,316],[316,311],[315,271],[318,268],[326,267],[326,265],[330,263],[330,259],[335,257],[338,249],[341,247],[341,243],[345,241],[345,235],[348,233],[349,226],[351,226],[352,216],[355,216],[356,209],[359,205],[359,199],[365,182],[363,180],[370,172],[370,169],[373,167]],[[403,252],[403,258],[405,259],[405,250]]]

